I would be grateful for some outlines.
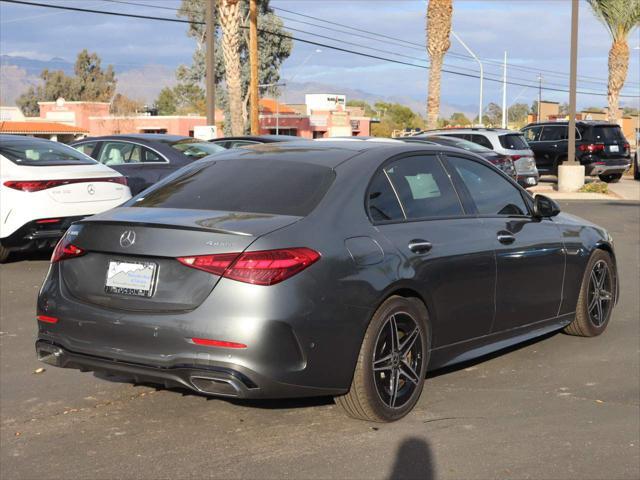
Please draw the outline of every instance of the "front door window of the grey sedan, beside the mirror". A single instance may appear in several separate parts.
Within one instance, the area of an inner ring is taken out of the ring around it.
[[[448,157],[480,215],[527,215],[520,191],[491,168],[470,159]]]

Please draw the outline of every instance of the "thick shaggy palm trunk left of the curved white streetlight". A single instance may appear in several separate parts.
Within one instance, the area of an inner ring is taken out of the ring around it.
[[[427,52],[431,59],[427,95],[427,128],[437,128],[440,114],[440,78],[442,61],[451,46],[453,0],[429,0],[427,7]]]

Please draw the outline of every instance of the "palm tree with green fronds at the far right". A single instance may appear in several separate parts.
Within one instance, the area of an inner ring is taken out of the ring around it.
[[[640,24],[640,0],[588,0],[591,9],[611,33],[613,42],[609,50],[608,117],[618,119],[620,90],[627,79],[629,69],[629,44],[627,37]]]

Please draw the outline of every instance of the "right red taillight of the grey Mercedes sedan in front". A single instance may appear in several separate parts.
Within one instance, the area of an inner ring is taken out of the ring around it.
[[[254,285],[274,285],[317,262],[310,248],[283,248],[259,252],[221,253],[180,257],[183,265]]]

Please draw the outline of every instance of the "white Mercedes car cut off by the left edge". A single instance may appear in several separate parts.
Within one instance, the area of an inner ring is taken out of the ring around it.
[[[75,220],[129,198],[122,175],[71,147],[0,135],[0,263],[53,248]]]

